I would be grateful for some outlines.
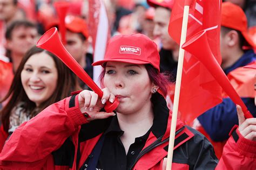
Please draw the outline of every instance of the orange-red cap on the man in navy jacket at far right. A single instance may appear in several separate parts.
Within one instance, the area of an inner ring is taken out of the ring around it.
[[[221,26],[240,31],[248,44],[255,47],[255,44],[247,33],[247,18],[240,6],[231,2],[224,2],[222,4]]]

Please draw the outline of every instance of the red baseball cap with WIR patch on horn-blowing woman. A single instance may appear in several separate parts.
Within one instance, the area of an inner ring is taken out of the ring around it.
[[[103,66],[107,61],[120,61],[138,65],[149,63],[160,71],[160,56],[157,45],[143,34],[112,37],[107,44],[105,59],[93,62],[92,66]]]

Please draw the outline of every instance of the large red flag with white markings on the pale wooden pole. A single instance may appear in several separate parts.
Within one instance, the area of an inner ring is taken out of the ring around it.
[[[179,44],[184,4],[186,0],[174,2],[169,24],[170,36]],[[208,29],[207,40],[218,63],[221,1],[194,0],[190,5],[187,36]],[[200,45],[197,49],[200,51]],[[222,101],[221,87],[207,68],[193,55],[185,51],[183,74],[179,98],[179,116],[186,124]]]

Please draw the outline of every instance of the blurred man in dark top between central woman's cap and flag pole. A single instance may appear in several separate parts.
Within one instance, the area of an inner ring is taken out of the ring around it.
[[[156,9],[153,18],[153,34],[161,41],[161,49],[159,52],[160,71],[171,73],[171,75],[173,76],[172,81],[175,82],[178,67],[179,45],[170,37],[168,32],[168,25],[171,17],[173,2],[174,1],[170,0],[147,0],[147,3]]]

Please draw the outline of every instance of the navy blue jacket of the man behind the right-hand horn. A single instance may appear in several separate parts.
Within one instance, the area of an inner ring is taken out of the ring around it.
[[[252,50],[247,51],[231,67],[225,69],[224,72],[227,75],[232,70],[246,66],[253,60],[255,60],[255,53]],[[254,98],[242,98],[242,101],[253,117],[256,117]],[[206,111],[198,117],[198,120],[213,141],[224,141],[228,139],[228,133],[233,126],[238,124],[237,109],[230,98],[223,98],[222,103]]]

